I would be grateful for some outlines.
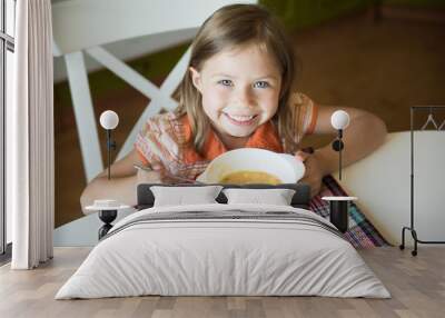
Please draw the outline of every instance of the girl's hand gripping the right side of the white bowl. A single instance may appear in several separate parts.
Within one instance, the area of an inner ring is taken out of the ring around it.
[[[305,163],[305,176],[299,181],[310,186],[310,198],[313,198],[322,190],[323,167],[314,153],[298,150],[295,157]]]

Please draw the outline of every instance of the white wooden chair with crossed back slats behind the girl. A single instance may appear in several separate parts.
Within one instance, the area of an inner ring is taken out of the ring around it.
[[[158,113],[161,107],[176,108],[171,93],[184,77],[190,50],[159,88],[121,60],[130,58],[125,47],[120,49],[122,57],[117,57],[105,46],[128,43],[132,39],[131,42],[139,44],[132,47],[138,47],[136,51],[140,54],[188,41],[215,10],[234,2],[256,1],[66,0],[52,4],[53,54],[66,62],[87,181],[103,167],[83,53],[150,98],[119,151],[119,159],[131,150],[136,133],[147,118]]]

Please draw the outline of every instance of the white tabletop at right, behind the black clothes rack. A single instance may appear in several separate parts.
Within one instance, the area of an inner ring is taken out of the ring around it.
[[[445,240],[445,131],[416,131],[414,136],[417,236]],[[397,245],[402,227],[409,226],[409,131],[389,133],[384,146],[347,167],[342,176],[342,186],[358,197],[358,207]]]

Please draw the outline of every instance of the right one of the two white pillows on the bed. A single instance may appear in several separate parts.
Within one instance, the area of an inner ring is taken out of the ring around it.
[[[295,195],[293,189],[224,189],[227,203],[261,203],[274,206],[290,206]]]

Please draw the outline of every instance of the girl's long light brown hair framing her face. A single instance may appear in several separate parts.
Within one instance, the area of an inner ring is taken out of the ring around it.
[[[299,107],[291,107],[289,99],[296,77],[296,57],[284,28],[271,13],[256,4],[231,4],[215,11],[204,22],[191,44],[189,67],[200,71],[204,62],[218,52],[248,43],[257,43],[261,49],[266,49],[280,68],[281,91],[278,110],[273,120],[277,123],[285,150],[295,151],[295,121]],[[176,113],[187,113],[192,143],[202,155],[210,122],[204,112],[201,95],[195,88],[189,70],[180,82],[176,97],[179,99]]]

